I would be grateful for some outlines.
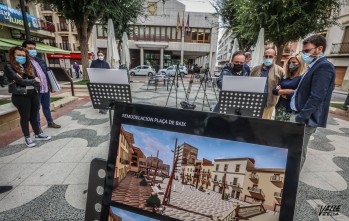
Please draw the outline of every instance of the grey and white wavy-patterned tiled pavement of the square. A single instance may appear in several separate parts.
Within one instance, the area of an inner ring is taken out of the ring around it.
[[[193,100],[197,86],[190,95]],[[181,86],[180,86],[181,89]],[[210,102],[213,92],[208,90]],[[142,83],[132,84],[134,103],[164,106],[168,91]],[[178,92],[178,104],[184,100]],[[201,110],[202,91],[197,110]],[[170,107],[175,106],[175,91]],[[212,106],[212,104],[211,104]],[[209,110],[206,107],[204,110]],[[45,128],[50,142],[28,149],[19,139],[0,148],[0,185],[14,189],[0,194],[0,220],[83,220],[89,163],[106,158],[109,142],[107,115],[98,114],[91,103],[75,108],[55,120],[61,129]],[[295,219],[299,221],[349,220],[349,122],[329,117],[328,127],[318,129],[310,141],[301,172]],[[318,205],[341,205],[340,216],[318,217]]]

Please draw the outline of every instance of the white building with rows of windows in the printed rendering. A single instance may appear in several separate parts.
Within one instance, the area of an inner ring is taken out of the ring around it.
[[[235,199],[242,199],[247,168],[253,167],[254,163],[254,159],[251,158],[215,159],[210,189],[219,193],[224,192]]]

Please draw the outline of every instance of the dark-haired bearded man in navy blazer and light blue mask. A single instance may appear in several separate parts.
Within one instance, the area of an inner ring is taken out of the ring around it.
[[[303,41],[302,59],[309,64],[291,98],[295,121],[305,124],[301,167],[303,167],[310,136],[317,127],[326,127],[335,68],[324,57],[326,39],[313,35]]]

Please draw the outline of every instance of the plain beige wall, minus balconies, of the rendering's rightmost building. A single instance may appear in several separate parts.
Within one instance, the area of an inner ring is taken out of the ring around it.
[[[274,193],[281,193],[283,188],[283,178],[284,173],[280,172],[255,172],[258,176],[258,179],[250,179],[252,171],[247,171],[244,177],[244,185],[242,190],[242,195],[240,196],[240,200],[246,200],[246,197],[252,197],[258,199],[255,203],[263,202],[263,206],[265,209],[274,210],[275,205],[279,205],[281,203],[281,197],[275,197]],[[282,182],[272,182],[271,177],[274,174],[280,174],[282,177]],[[260,194],[253,193],[248,190],[249,187],[253,187],[256,185],[257,188],[262,190],[264,195],[264,200],[261,200]],[[261,200],[261,201],[259,201]]]

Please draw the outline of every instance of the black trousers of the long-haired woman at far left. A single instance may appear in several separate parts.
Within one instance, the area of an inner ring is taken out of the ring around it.
[[[26,95],[12,94],[12,103],[17,108],[20,115],[20,123],[23,135],[30,136],[29,122],[35,134],[40,133],[37,114],[39,112],[39,95],[34,89],[29,89]]]

